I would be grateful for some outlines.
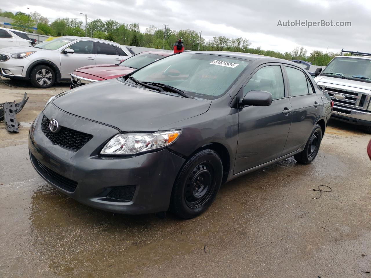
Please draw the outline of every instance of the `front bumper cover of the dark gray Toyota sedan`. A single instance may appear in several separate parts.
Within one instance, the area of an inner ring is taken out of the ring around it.
[[[90,133],[93,138],[77,151],[53,145],[41,130],[44,113],[49,119],[58,119],[61,126]],[[30,130],[32,165],[40,176],[59,191],[105,211],[123,214],[167,211],[175,178],[185,161],[180,156],[162,149],[133,157],[101,157],[99,151],[118,130],[69,115],[52,104],[40,113]],[[48,171],[62,178],[50,175]],[[65,189],[63,178],[77,183],[73,192]],[[135,186],[131,201],[107,198],[111,190],[121,186]]]

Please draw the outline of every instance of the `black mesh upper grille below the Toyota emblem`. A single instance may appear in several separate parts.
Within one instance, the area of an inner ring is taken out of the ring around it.
[[[41,130],[53,144],[73,150],[79,150],[93,138],[93,135],[65,128],[64,126],[61,127],[58,133],[53,133],[49,129],[49,123],[50,120],[44,116],[41,122]]]

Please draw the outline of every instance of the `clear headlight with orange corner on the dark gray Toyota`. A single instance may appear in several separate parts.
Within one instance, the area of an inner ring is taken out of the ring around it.
[[[182,133],[171,130],[145,133],[121,133],[116,135],[101,150],[102,155],[135,155],[148,150],[163,148],[173,143]]]

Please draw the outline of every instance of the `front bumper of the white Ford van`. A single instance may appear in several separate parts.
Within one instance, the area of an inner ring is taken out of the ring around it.
[[[331,118],[353,125],[371,126],[371,112],[334,105]]]

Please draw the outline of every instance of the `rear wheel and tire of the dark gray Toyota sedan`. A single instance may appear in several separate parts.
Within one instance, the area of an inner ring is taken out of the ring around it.
[[[316,158],[319,150],[319,146],[321,146],[322,140],[322,129],[321,126],[315,125],[311,136],[309,136],[308,141],[305,144],[304,150],[296,155],[294,158],[297,162],[301,164],[309,164]]]

